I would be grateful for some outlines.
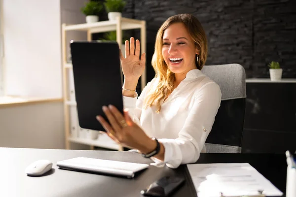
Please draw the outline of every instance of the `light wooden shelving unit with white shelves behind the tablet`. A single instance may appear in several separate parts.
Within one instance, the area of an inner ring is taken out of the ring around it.
[[[76,101],[74,98],[74,88],[70,90],[70,86],[74,84],[70,82],[69,73],[73,72],[72,64],[67,62],[67,43],[66,34],[69,31],[83,31],[87,33],[87,40],[91,40],[92,33],[103,33],[116,31],[116,41],[121,48],[122,30],[141,30],[141,53],[146,52],[146,21],[135,20],[123,17],[117,17],[115,21],[100,21],[96,23],[85,23],[77,25],[62,24],[62,53],[63,53],[63,95],[64,95],[64,118],[65,118],[65,138],[66,149],[70,149],[71,142],[90,145],[90,149],[94,146],[108,148],[113,150],[122,150],[122,147],[113,142],[106,134],[99,134],[97,139],[92,139],[91,132],[99,133],[98,131],[88,131],[88,136],[82,136],[82,131],[78,125],[76,114]],[[69,72],[71,71],[71,72]],[[73,74],[73,73],[72,73]],[[121,73],[122,74],[122,73]],[[146,86],[146,70],[141,76],[141,89]],[[76,116],[76,117],[75,117]],[[81,132],[80,132],[81,131]],[[81,135],[80,135],[81,134]],[[84,134],[83,134],[84,135]]]

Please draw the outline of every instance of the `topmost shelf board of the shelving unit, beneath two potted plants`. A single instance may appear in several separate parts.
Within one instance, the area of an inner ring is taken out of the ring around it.
[[[90,33],[111,32],[116,30],[117,21],[99,21],[96,23],[83,23],[78,25],[67,25],[65,31],[89,31]],[[121,30],[141,29],[142,21],[121,18]]]

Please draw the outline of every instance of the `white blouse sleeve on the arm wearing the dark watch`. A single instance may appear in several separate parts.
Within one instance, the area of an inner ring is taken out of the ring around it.
[[[194,104],[177,139],[158,139],[165,148],[164,161],[156,164],[176,168],[198,160],[214,124],[221,103],[221,90],[215,82],[205,84],[194,98]]]

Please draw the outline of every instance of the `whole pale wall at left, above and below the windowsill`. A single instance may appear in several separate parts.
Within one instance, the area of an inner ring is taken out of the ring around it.
[[[61,24],[84,23],[85,1],[3,0],[7,94],[62,97]],[[0,147],[64,149],[63,102],[0,108]]]

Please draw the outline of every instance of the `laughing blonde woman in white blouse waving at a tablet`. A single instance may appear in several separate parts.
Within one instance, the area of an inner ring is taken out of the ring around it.
[[[207,58],[207,39],[200,22],[190,14],[167,19],[156,35],[153,78],[140,97],[135,92],[145,68],[140,41],[125,41],[121,54],[124,114],[104,106],[110,121],[97,119],[117,143],[137,149],[157,164],[178,167],[194,163],[205,152],[221,102],[219,86],[200,70]],[[152,138],[151,138],[152,137]]]

